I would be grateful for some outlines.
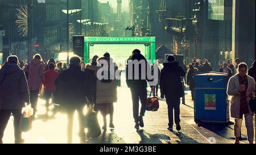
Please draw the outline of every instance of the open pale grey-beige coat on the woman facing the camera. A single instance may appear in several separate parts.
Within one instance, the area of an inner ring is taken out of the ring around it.
[[[247,87],[246,91],[251,91],[251,93],[255,97],[255,81],[250,76],[247,76],[247,79],[248,79],[248,87]],[[240,118],[241,94],[238,92],[239,87],[240,87],[240,83],[239,83],[239,79],[238,79],[238,74],[236,74],[229,79],[228,89],[227,89],[227,94],[232,96],[232,99],[230,102],[231,103],[231,107],[230,107],[231,117],[235,118],[235,119]],[[249,100],[250,100],[250,97],[247,97],[248,107],[249,107]],[[253,112],[250,110],[250,107],[249,107],[249,111],[250,111],[249,115],[253,115]]]

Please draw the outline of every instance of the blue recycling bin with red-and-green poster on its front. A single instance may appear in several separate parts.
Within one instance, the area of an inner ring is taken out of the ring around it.
[[[194,74],[195,122],[226,124],[229,122],[229,102],[226,98],[228,74],[207,72]]]

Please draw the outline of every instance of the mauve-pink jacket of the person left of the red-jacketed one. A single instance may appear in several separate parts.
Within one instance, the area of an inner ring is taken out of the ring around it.
[[[42,82],[45,82],[44,65],[38,58],[33,58],[32,61],[24,66],[24,72],[28,71],[28,89],[39,90]]]

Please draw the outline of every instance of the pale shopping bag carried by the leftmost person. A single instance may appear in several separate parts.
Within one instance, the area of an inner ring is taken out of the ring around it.
[[[22,117],[19,122],[19,131],[28,132],[32,128],[34,110],[31,105],[22,108]]]

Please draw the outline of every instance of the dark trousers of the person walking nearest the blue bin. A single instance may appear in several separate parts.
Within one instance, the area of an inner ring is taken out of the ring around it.
[[[166,102],[168,105],[168,118],[169,118],[169,127],[172,127],[175,124],[180,124],[180,98],[170,98],[166,97]]]

